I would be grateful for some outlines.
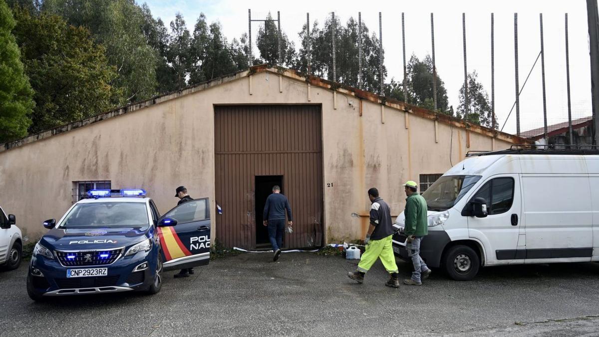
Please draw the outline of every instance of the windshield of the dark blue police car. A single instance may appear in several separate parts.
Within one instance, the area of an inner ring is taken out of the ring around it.
[[[147,227],[149,221],[145,203],[80,203],[66,215],[60,228]]]

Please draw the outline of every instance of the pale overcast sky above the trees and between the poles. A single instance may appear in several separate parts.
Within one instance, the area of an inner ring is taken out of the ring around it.
[[[146,2],[155,17],[165,25],[177,12],[183,14],[187,27],[200,13],[208,22],[219,21],[229,41],[247,32],[247,10],[256,16],[272,11],[281,13],[281,28],[299,46],[298,32],[305,23],[305,13],[324,20],[334,11],[341,22],[362,13],[362,22],[370,32],[378,34],[379,11],[382,12],[383,49],[388,78],[403,78],[401,48],[401,13],[406,19],[406,54],[419,58],[431,53],[430,13],[435,19],[435,59],[437,71],[444,81],[449,103],[458,106],[458,91],[464,83],[462,46],[462,12],[466,13],[468,72],[476,70],[479,80],[491,97],[491,13],[495,13],[495,112],[500,127],[515,101],[514,13],[518,13],[519,82],[522,87],[540,52],[539,13],[543,13],[547,118],[549,124],[567,121],[567,86],[565,68],[564,13],[568,13],[570,50],[570,91],[574,118],[590,116],[591,75],[588,49],[588,27],[585,0],[572,1],[315,1],[285,2],[256,0],[138,0]],[[253,38],[258,23],[253,23]],[[255,43],[255,41],[253,41]],[[253,47],[257,52],[256,47]],[[516,109],[504,131],[515,133]],[[520,96],[521,131],[543,126],[541,61],[537,62]]]

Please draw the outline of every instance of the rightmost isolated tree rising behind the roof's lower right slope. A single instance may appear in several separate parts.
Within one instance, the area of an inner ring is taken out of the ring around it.
[[[497,121],[493,125],[493,112],[489,103],[489,95],[478,81],[476,71],[468,74],[468,113],[466,113],[464,85],[459,89],[459,106],[457,115],[468,122],[497,129]]]

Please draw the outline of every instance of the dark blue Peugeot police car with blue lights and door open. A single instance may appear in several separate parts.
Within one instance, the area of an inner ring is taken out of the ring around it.
[[[27,292],[50,296],[144,291],[162,287],[164,270],[208,264],[208,199],[164,215],[143,189],[92,189],[35,245]]]

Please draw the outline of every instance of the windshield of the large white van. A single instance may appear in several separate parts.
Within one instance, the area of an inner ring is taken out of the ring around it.
[[[447,210],[453,207],[479,181],[480,176],[441,176],[422,197],[428,210]]]

